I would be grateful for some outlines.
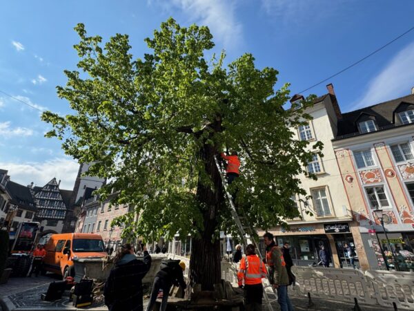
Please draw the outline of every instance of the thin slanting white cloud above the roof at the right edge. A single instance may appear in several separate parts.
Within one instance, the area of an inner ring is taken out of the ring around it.
[[[381,72],[368,83],[366,92],[350,109],[371,106],[408,95],[414,83],[414,42],[402,49]]]

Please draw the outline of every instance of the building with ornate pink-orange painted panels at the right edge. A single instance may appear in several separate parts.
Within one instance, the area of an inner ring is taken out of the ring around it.
[[[333,147],[369,267],[413,271],[414,93],[342,114]]]

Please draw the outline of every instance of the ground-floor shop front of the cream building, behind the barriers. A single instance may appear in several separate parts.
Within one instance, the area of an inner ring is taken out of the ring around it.
[[[279,245],[289,243],[290,256],[295,265],[322,265],[319,251],[324,246],[328,256],[331,257],[330,267],[351,267],[345,252],[346,243],[354,247],[353,234],[348,223],[290,225],[288,228],[270,229],[269,232],[275,236],[275,241]],[[262,236],[265,232],[258,233],[261,238],[259,247],[264,254]]]

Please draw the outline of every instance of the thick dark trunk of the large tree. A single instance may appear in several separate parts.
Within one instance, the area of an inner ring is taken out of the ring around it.
[[[223,200],[221,178],[215,165],[214,156],[217,149],[204,144],[199,156],[205,163],[206,173],[210,176],[213,187],[198,182],[197,198],[203,209],[204,230],[200,238],[193,238],[190,258],[191,284],[200,283],[201,290],[213,290],[213,285],[221,279],[220,241],[215,238],[217,229],[217,212]]]

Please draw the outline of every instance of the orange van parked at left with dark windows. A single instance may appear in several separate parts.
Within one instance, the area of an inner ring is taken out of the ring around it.
[[[52,234],[45,246],[46,257],[43,270],[66,276],[74,276],[73,258],[106,256],[99,234]]]

